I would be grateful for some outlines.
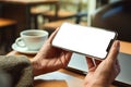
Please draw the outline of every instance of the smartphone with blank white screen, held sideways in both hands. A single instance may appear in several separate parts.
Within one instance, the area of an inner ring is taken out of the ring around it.
[[[52,40],[52,46],[105,59],[116,38],[117,33],[112,30],[63,23]]]

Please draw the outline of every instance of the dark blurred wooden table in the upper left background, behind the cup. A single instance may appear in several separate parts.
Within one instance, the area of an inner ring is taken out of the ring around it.
[[[59,0],[0,0],[0,16],[17,21],[17,28],[32,28],[31,9],[40,4],[53,4],[58,10]]]

